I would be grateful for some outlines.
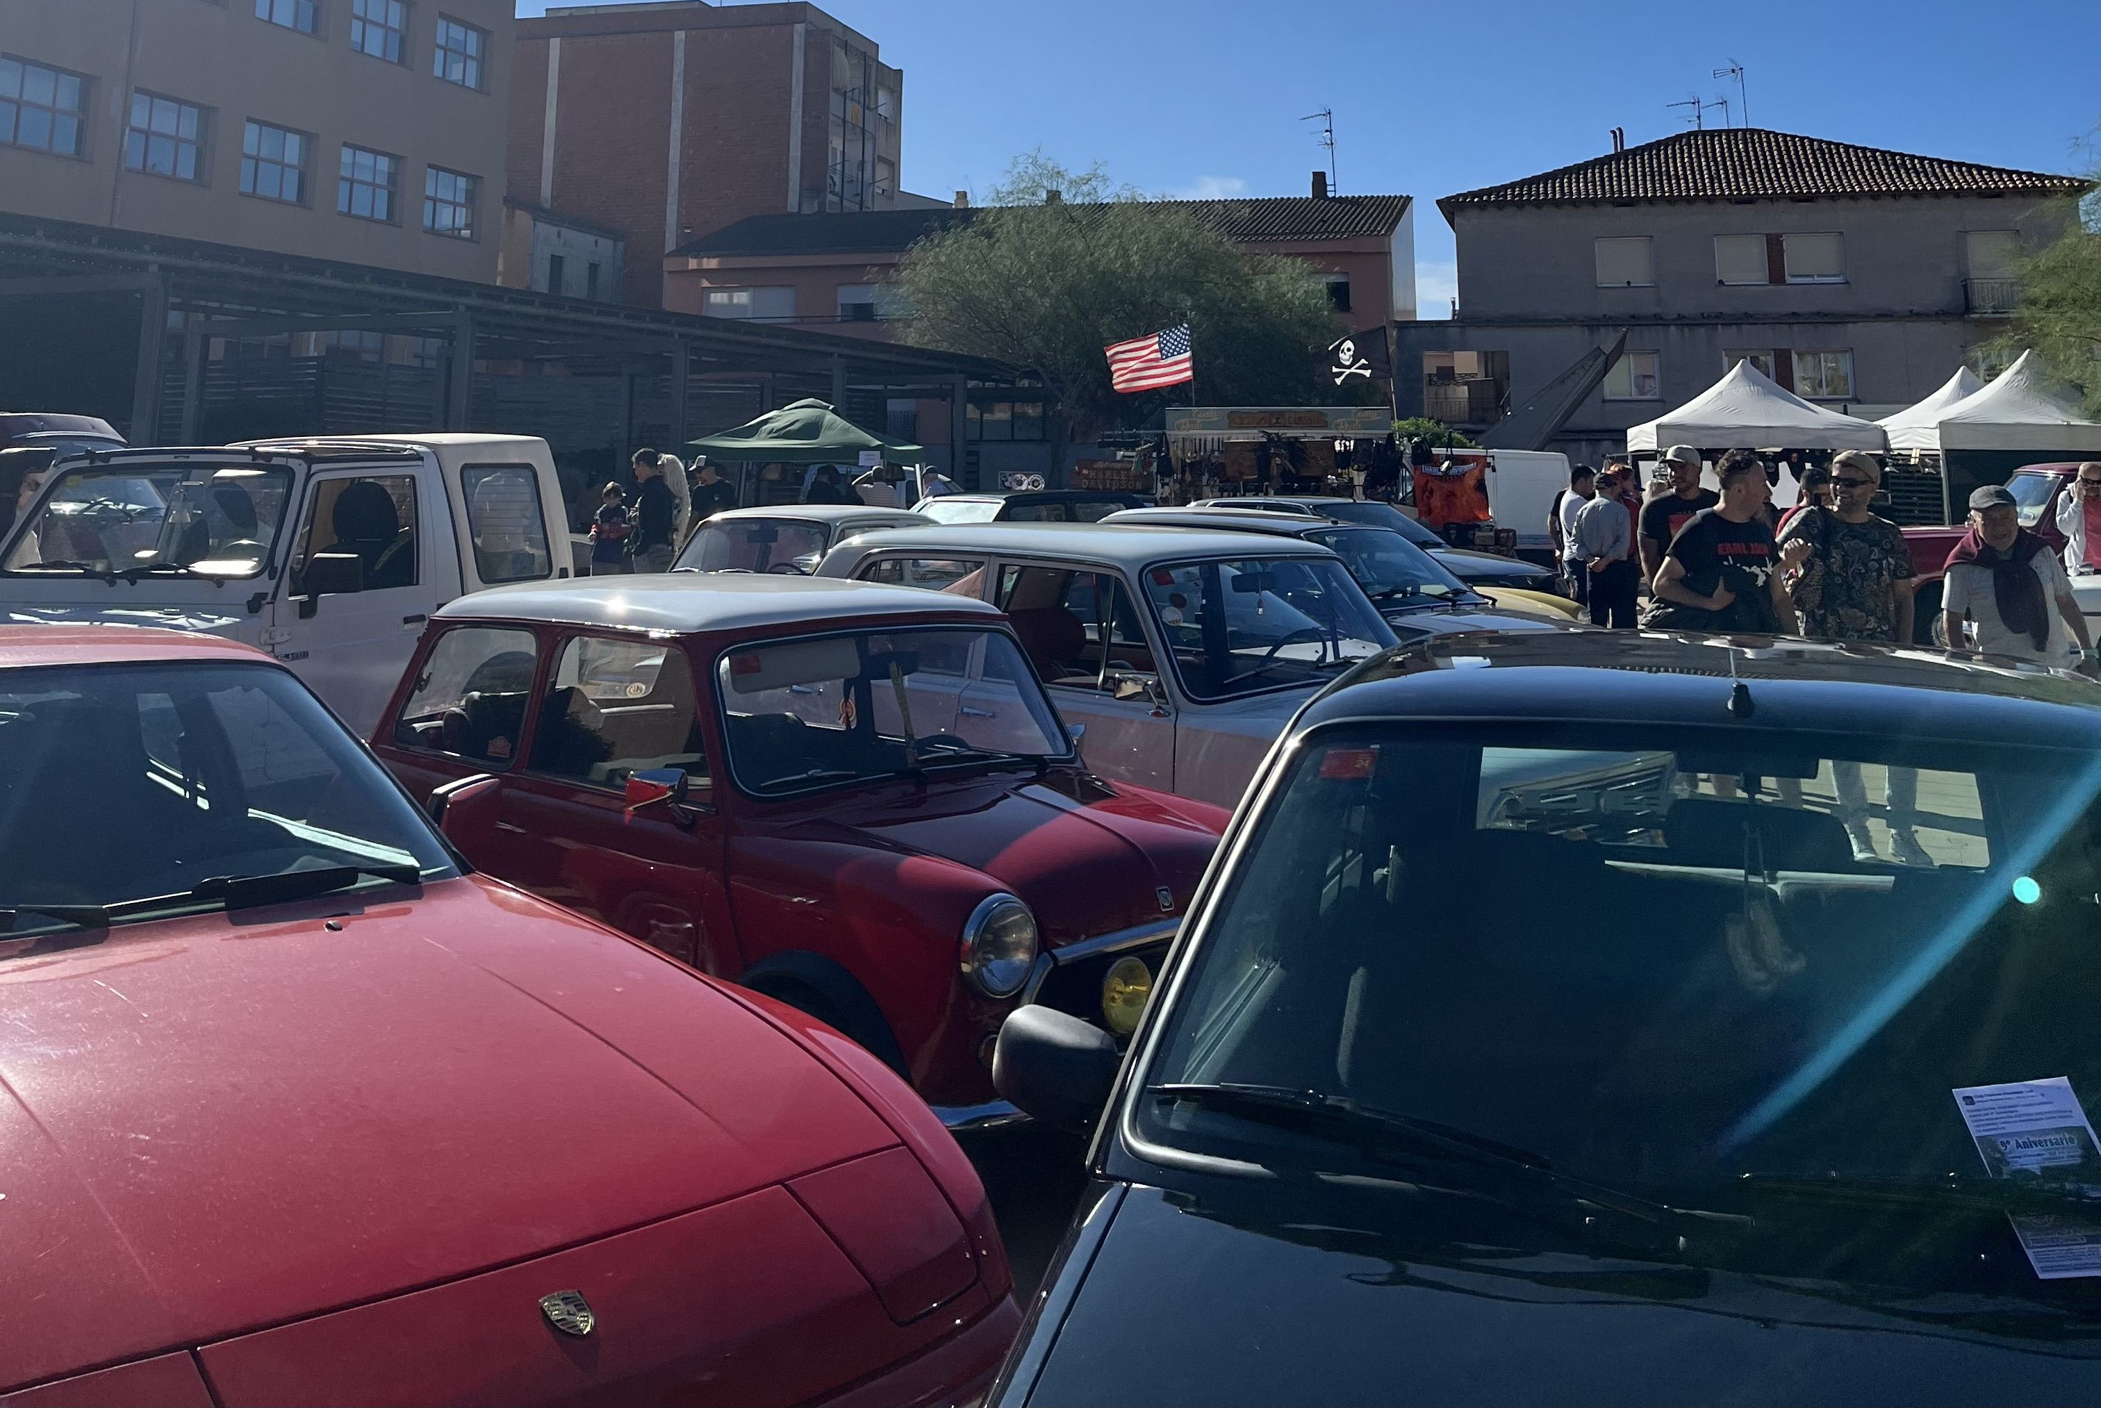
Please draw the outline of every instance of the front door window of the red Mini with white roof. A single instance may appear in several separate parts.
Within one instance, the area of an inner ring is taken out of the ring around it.
[[[668,641],[578,635],[563,643],[540,700],[527,767],[592,788],[620,790],[660,767],[708,786],[693,670]]]

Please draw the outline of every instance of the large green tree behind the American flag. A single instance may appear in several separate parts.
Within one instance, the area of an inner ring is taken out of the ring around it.
[[[1340,322],[1309,265],[1248,254],[1181,206],[1111,187],[1099,164],[1069,170],[1040,151],[1017,158],[992,200],[906,252],[906,336],[1036,374],[1067,435],[1187,403],[1189,387],[1114,391],[1101,351],[1185,319],[1204,403],[1334,399],[1317,355]]]

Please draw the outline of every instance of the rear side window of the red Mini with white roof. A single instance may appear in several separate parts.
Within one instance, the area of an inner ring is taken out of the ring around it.
[[[511,767],[538,664],[532,630],[454,626],[424,656],[393,740]]]

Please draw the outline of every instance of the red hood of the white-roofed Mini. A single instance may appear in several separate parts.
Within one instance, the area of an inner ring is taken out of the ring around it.
[[[1145,788],[1053,775],[887,796],[840,811],[828,826],[992,876],[1036,910],[1044,941],[1055,946],[1181,914],[1225,813]]]

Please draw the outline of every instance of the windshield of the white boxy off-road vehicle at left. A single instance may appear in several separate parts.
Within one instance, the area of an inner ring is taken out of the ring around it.
[[[275,464],[61,467],[15,525],[6,572],[252,578],[271,559],[290,492],[292,473]]]

